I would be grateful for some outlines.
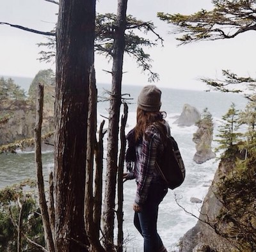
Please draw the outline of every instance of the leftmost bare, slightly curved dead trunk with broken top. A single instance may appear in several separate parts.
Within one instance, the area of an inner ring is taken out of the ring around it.
[[[38,185],[39,205],[42,213],[42,221],[44,225],[45,242],[49,252],[54,252],[54,241],[52,239],[52,230],[50,225],[48,207],[45,199],[44,175],[42,167],[42,121],[43,121],[43,105],[44,105],[44,85],[38,84],[37,101],[36,101],[36,126],[35,126],[35,161],[36,161],[36,178]]]

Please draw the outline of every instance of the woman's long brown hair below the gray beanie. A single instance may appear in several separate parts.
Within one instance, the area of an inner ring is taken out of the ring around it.
[[[148,112],[142,110],[141,108],[137,108],[137,124],[135,126],[135,141],[137,142],[143,134],[148,126],[156,122],[156,124],[161,125],[161,128],[166,132],[166,127],[163,124],[163,118],[166,116],[165,112]],[[158,127],[157,127],[158,128]],[[162,131],[162,130],[161,130]]]

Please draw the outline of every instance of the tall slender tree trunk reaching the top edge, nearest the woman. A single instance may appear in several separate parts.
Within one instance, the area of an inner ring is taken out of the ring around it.
[[[106,191],[104,198],[104,246],[106,251],[114,250],[114,218],[116,171],[118,154],[118,131],[121,105],[122,69],[125,48],[125,21],[127,0],[118,0],[115,40],[113,47],[112,90],[109,108],[108,154],[106,171]]]

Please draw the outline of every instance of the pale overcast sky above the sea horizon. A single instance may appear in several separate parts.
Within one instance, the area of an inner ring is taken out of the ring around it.
[[[97,1],[97,12],[116,13],[117,0]],[[211,0],[128,0],[127,14],[137,19],[152,21],[156,32],[164,38],[164,47],[147,50],[154,62],[153,71],[160,75],[157,85],[179,89],[205,89],[200,77],[220,78],[221,70],[255,77],[256,34],[241,34],[232,40],[204,41],[177,47],[172,27],[157,19],[157,11],[192,14],[198,10],[211,10]],[[1,0],[0,22],[51,31],[57,21],[58,5],[44,0]],[[150,35],[150,38],[154,38]],[[45,37],[9,26],[0,26],[0,75],[35,77],[39,70],[55,69],[54,64],[40,63],[36,45]],[[95,57],[97,82],[111,83],[111,76],[102,70],[111,70],[104,57]],[[123,83],[147,84],[147,75],[141,73],[134,60],[125,57]]]

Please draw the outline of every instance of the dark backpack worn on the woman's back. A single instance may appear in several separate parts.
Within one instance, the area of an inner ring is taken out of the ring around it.
[[[156,162],[156,168],[170,189],[177,188],[184,181],[184,163],[178,144],[172,136],[166,137],[164,151],[160,160]]]

